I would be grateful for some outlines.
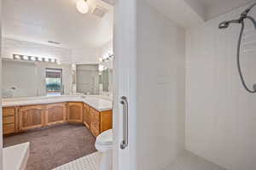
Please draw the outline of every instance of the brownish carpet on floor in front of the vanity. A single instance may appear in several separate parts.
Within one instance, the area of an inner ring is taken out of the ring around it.
[[[3,138],[3,146],[30,142],[26,170],[50,170],[96,151],[95,138],[83,125],[60,125]]]

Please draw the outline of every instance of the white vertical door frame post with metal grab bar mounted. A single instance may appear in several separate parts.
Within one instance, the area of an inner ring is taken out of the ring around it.
[[[117,0],[113,26],[113,170],[137,169],[137,0]],[[125,150],[123,140],[123,105],[121,96],[128,99],[128,137]]]

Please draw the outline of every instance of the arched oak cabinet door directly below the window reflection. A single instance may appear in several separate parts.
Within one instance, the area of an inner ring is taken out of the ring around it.
[[[67,107],[65,103],[46,105],[45,107],[46,125],[66,122]]]

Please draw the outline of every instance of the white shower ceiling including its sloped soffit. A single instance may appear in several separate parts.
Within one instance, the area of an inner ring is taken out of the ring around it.
[[[189,28],[255,0],[147,0],[147,2],[180,26]]]

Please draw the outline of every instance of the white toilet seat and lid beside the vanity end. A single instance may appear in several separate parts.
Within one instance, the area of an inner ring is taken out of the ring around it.
[[[108,146],[113,144],[113,130],[109,129],[96,138],[96,144],[102,146]]]

